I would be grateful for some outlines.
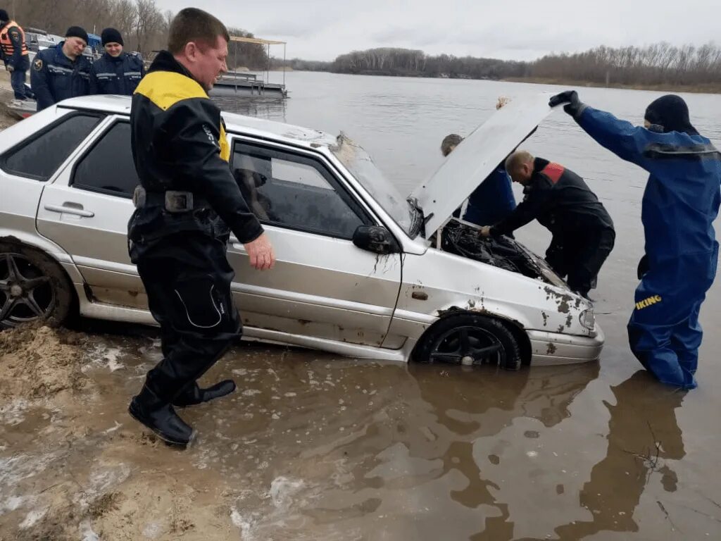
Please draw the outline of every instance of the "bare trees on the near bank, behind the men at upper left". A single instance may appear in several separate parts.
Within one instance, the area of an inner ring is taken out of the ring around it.
[[[12,9],[14,6],[14,9]],[[173,12],[161,12],[155,0],[21,0],[4,2],[4,7],[25,28],[65,35],[68,27],[78,25],[99,35],[103,28],[113,27],[123,34],[126,50],[136,50],[147,57],[164,49]],[[252,38],[250,32],[229,28],[231,35]],[[267,53],[255,43],[229,44],[229,65],[265,68]]]

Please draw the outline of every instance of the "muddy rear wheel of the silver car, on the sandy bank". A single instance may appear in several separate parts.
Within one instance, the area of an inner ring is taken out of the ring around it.
[[[74,299],[72,283],[55,260],[0,242],[0,328],[38,321],[57,327],[68,319]]]

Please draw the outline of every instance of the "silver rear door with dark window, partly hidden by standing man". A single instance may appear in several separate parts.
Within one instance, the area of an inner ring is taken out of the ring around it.
[[[147,298],[128,256],[127,240],[137,184],[130,123],[112,118],[45,187],[37,230],[71,255],[94,299],[144,308]]]

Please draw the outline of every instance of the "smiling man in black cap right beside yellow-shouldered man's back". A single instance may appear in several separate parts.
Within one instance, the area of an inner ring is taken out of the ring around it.
[[[143,61],[123,52],[123,36],[115,28],[100,35],[105,54],[90,69],[90,94],[132,96],[145,74]]]

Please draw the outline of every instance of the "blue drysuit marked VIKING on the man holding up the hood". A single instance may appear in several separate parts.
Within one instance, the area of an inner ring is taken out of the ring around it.
[[[658,133],[592,107],[576,121],[606,149],[650,173],[641,215],[648,271],[636,289],[629,344],[661,382],[692,389],[702,339],[699,308],[716,276],[721,154],[695,131]]]

